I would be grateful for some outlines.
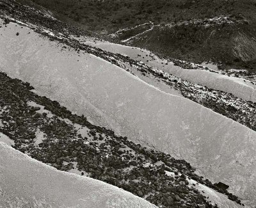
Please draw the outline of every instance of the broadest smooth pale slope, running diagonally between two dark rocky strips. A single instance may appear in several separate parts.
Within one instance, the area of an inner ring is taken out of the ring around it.
[[[255,200],[256,132],[100,58],[60,51],[63,45],[29,29],[8,24],[0,33],[1,70],[10,76],[95,124],[186,159],[209,179]]]

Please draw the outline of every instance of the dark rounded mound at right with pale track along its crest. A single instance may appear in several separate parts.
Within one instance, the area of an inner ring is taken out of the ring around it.
[[[167,58],[194,63],[225,63],[226,66],[221,68],[255,71],[256,31],[244,20],[222,16],[149,27],[142,31],[139,31],[142,26],[127,29],[114,36],[126,44],[146,48]]]

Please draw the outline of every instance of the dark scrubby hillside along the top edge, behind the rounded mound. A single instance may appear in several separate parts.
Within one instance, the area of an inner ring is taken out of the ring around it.
[[[220,15],[256,20],[256,4],[252,0],[31,0],[30,2],[44,6],[63,18],[76,20],[92,31],[106,29],[111,33],[120,28],[129,28],[149,21],[168,23]]]

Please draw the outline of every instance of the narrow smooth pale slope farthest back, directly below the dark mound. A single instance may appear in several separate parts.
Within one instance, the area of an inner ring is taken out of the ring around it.
[[[241,99],[256,102],[256,85],[250,83],[248,80],[238,77],[229,77],[227,75],[217,74],[206,70],[184,69],[173,65],[170,61],[157,58],[154,54],[150,54],[150,52],[145,49],[137,47],[129,47],[102,41],[92,42],[92,39],[90,38],[81,38],[81,41],[84,41],[84,44],[93,45],[105,51],[124,54],[134,60],[143,61],[143,63],[146,63],[150,67],[157,67],[164,72],[173,74],[174,76],[190,81],[191,83],[201,84],[202,86],[207,86],[214,90],[232,93]],[[138,54],[140,56],[138,56]],[[154,57],[154,59],[152,59],[152,57]],[[168,65],[165,63],[168,63]]]

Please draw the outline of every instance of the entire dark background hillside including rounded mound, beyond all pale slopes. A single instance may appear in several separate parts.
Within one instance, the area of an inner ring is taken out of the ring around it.
[[[26,2],[28,3],[27,0]],[[51,10],[61,20],[77,22],[81,28],[98,34],[109,35],[119,29],[152,22],[156,27],[130,42],[131,45],[169,58],[195,63],[212,61],[225,69],[245,68],[255,72],[255,0],[33,2]],[[229,17],[234,24],[227,21],[216,24],[211,22],[214,17]],[[196,20],[200,20],[202,24],[180,24]],[[170,25],[174,27],[170,28]],[[147,29],[131,29],[125,36],[129,38]],[[124,39],[118,36],[113,40]]]

